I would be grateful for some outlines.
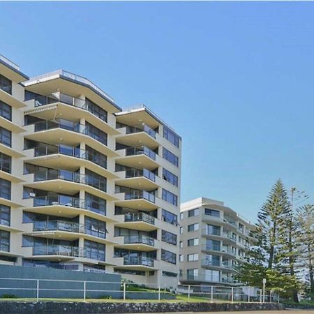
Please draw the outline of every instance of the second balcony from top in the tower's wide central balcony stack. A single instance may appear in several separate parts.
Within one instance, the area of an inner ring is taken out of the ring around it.
[[[33,130],[29,129],[33,126]],[[107,156],[118,154],[107,147],[107,136],[91,132],[88,126],[66,119],[39,121],[25,126],[28,129],[27,138],[37,142],[54,144],[61,138],[67,145],[77,146],[80,142],[88,142],[89,146]]]

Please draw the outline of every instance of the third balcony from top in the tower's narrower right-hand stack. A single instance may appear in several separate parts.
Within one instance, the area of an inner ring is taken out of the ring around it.
[[[116,180],[119,186],[127,186],[128,188],[144,188],[145,190],[154,190],[158,188],[156,179],[159,179],[154,172],[147,169],[128,169],[123,172],[116,172],[121,179]]]

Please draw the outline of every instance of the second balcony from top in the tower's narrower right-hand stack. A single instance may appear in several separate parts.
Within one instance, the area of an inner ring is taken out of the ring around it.
[[[117,149],[120,155],[117,162],[127,167],[137,168],[138,165],[147,170],[154,170],[158,167],[157,154],[148,147],[128,147],[126,149]]]

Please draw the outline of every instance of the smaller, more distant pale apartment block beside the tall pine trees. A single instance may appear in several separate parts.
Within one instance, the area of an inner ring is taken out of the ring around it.
[[[234,267],[253,243],[254,225],[205,197],[182,203],[179,223],[180,283],[235,284]]]

